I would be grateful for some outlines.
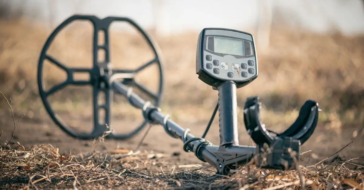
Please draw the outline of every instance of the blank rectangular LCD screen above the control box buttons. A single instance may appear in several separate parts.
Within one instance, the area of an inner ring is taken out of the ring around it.
[[[244,56],[244,40],[214,36],[214,52]]]

